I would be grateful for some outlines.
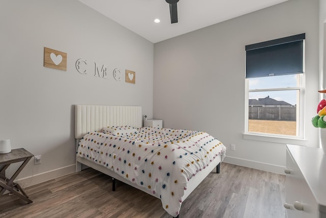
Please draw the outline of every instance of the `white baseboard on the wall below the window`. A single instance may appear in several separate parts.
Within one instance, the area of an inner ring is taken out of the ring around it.
[[[267,172],[271,172],[271,173],[285,175],[285,173],[284,173],[285,167],[278,166],[278,165],[271,165],[269,163],[263,163],[263,162],[241,159],[241,158],[230,157],[230,156],[226,156],[224,158],[223,162],[232,163],[234,165],[239,165],[242,167],[249,167],[249,168],[253,168],[253,169],[257,169],[257,170],[263,170],[263,171],[267,171]],[[221,172],[223,172],[222,168],[221,168]]]

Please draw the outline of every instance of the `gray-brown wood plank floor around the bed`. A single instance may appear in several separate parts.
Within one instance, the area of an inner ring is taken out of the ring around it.
[[[183,202],[183,217],[285,217],[285,176],[221,163]],[[172,217],[156,199],[93,169],[24,189],[33,203],[0,197],[0,217]]]

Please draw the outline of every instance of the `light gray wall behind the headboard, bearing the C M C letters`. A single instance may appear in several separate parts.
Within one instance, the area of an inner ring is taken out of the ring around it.
[[[152,116],[153,43],[120,24],[77,0],[1,0],[0,30],[0,139],[42,155],[19,176],[25,185],[74,171],[74,104],[140,105]],[[67,71],[43,67],[44,47],[67,53]],[[94,62],[108,66],[107,79],[94,76]]]

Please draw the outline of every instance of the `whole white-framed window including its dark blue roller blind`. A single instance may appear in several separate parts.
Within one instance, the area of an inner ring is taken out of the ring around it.
[[[245,133],[303,139],[304,39],[246,46]]]

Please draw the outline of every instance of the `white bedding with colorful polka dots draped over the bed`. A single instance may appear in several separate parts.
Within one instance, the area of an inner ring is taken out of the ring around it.
[[[226,147],[206,132],[156,127],[106,127],[87,133],[77,156],[104,166],[161,199],[172,216],[179,214],[187,181]]]

